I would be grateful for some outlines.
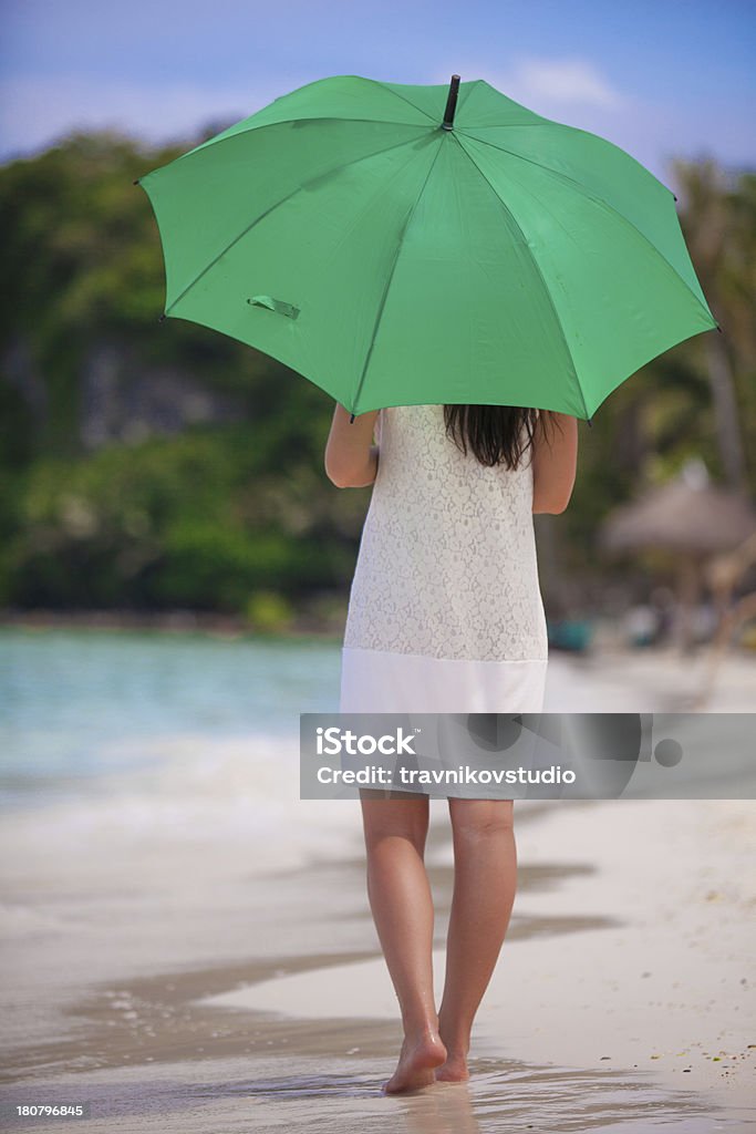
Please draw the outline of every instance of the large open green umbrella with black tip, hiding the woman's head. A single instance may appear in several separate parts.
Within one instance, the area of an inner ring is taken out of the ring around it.
[[[254,346],[352,415],[470,403],[589,420],[717,327],[674,194],[483,79],[323,78],[137,184],[161,319]]]

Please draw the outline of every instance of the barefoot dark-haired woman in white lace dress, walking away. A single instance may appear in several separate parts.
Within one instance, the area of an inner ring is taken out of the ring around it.
[[[372,443],[375,441],[376,443]],[[540,712],[547,665],[533,513],[575,484],[577,420],[511,406],[337,405],[325,471],[373,484],[349,595],[341,712]],[[515,900],[512,799],[449,799],[455,890],[439,1012],[427,796],[363,792],[367,889],[405,1039],[387,1092],[468,1077]],[[396,796],[400,796],[397,798]]]

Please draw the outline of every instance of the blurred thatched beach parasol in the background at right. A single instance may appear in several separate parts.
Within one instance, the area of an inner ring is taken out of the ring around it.
[[[704,463],[691,460],[676,480],[615,508],[600,528],[598,547],[615,555],[663,550],[677,558],[685,648],[703,565],[733,551],[754,532],[756,508],[750,501],[711,484]]]

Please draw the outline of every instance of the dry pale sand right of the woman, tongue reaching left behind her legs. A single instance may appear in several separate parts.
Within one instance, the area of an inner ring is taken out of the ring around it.
[[[569,861],[545,892],[518,889],[513,916],[545,914],[552,932],[510,926],[473,1053],[581,1074],[611,1065],[750,1107],[756,1119],[756,804],[602,801],[550,809],[521,828],[516,819],[516,829],[528,865],[545,865],[560,846]],[[443,957],[434,950],[436,990]],[[387,1022],[397,1013],[382,958],[198,1002],[323,1022],[337,1010]]]

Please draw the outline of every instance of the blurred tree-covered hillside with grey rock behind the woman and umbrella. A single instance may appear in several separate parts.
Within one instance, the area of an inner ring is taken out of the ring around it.
[[[342,610],[369,489],[325,476],[331,398],[218,332],[159,323],[160,240],[133,183],[219,129],[161,150],[80,134],[0,168],[0,606],[262,628]],[[677,162],[668,184],[724,333],[668,352],[580,426],[570,508],[536,518],[547,612],[672,578],[663,559],[605,560],[596,532],[689,458],[756,492],[756,175]]]

